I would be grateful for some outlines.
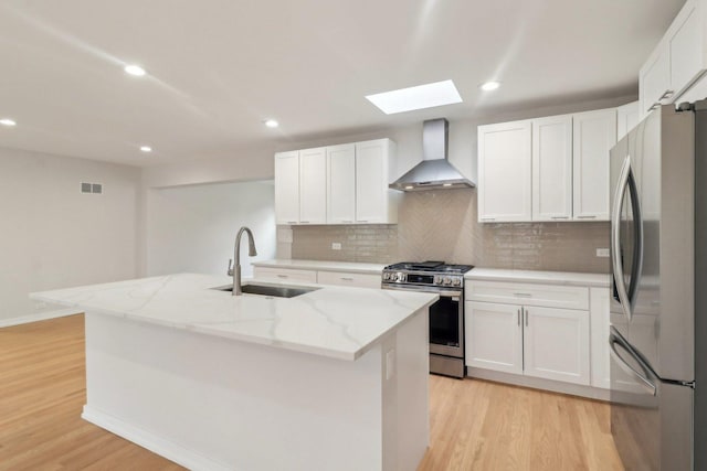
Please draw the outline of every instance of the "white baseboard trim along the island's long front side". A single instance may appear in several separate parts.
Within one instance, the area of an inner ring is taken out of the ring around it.
[[[231,470],[231,468],[222,463],[215,462],[202,454],[188,450],[152,432],[127,424],[114,416],[105,414],[101,410],[96,410],[95,408],[89,407],[87,404],[84,406],[81,418],[190,470]]]

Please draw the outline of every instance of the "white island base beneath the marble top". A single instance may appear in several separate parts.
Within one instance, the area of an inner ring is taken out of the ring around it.
[[[83,418],[194,470],[414,470],[428,309],[356,361],[86,312]]]

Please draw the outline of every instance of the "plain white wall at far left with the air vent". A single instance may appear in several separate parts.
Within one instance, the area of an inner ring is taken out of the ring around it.
[[[134,278],[139,189],[137,168],[0,148],[0,325],[52,317],[31,291]]]

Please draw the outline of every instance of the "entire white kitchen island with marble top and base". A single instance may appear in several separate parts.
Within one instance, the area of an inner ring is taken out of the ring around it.
[[[414,470],[436,295],[232,297],[180,274],[33,293],[86,313],[83,417],[198,470]]]

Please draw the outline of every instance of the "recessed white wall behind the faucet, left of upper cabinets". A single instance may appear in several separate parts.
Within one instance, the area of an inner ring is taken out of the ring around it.
[[[225,275],[241,226],[255,236],[253,258],[247,240],[241,240],[241,270],[251,275],[250,261],[275,257],[274,192],[272,181],[147,190],[147,276]]]

